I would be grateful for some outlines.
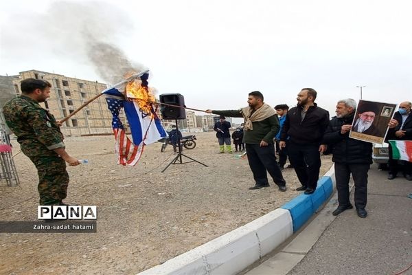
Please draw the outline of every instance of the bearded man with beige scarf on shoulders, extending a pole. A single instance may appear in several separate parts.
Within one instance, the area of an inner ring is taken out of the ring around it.
[[[246,144],[247,159],[255,179],[255,186],[249,189],[268,187],[266,170],[279,186],[279,191],[286,191],[286,181],[276,164],[273,138],[279,131],[279,119],[272,107],[263,102],[260,91],[249,93],[249,107],[240,110],[215,111],[207,109],[206,113],[215,113],[232,118],[244,118],[243,141]]]

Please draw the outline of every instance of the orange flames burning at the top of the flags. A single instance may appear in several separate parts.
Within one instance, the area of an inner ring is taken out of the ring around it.
[[[126,97],[135,100],[142,112],[152,114],[152,103],[155,102],[152,89],[142,87],[141,80],[135,80],[126,85]]]

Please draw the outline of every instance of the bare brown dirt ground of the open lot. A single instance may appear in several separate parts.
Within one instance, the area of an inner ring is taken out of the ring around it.
[[[98,206],[98,232],[0,234],[0,274],[137,274],[266,214],[293,197],[300,186],[285,169],[287,192],[248,190],[247,159],[219,154],[214,133],[198,133],[183,153],[207,164],[172,165],[160,143],[146,146],[135,167],[117,166],[113,136],[69,137],[67,151],[89,164],[69,167],[69,204]],[[14,141],[14,153],[19,144]],[[185,161],[185,159],[183,158]],[[21,184],[0,182],[0,221],[37,220],[36,168],[14,157]],[[322,157],[321,175],[332,165]]]

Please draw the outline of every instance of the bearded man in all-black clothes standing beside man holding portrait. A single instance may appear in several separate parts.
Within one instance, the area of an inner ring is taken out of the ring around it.
[[[279,142],[281,148],[286,148],[288,140],[289,161],[302,185],[296,190],[304,190],[306,195],[312,194],[317,187],[320,153],[327,148],[321,141],[329,124],[329,113],[317,107],[316,97],[314,89],[301,89],[297,94],[297,107],[286,115]]]

